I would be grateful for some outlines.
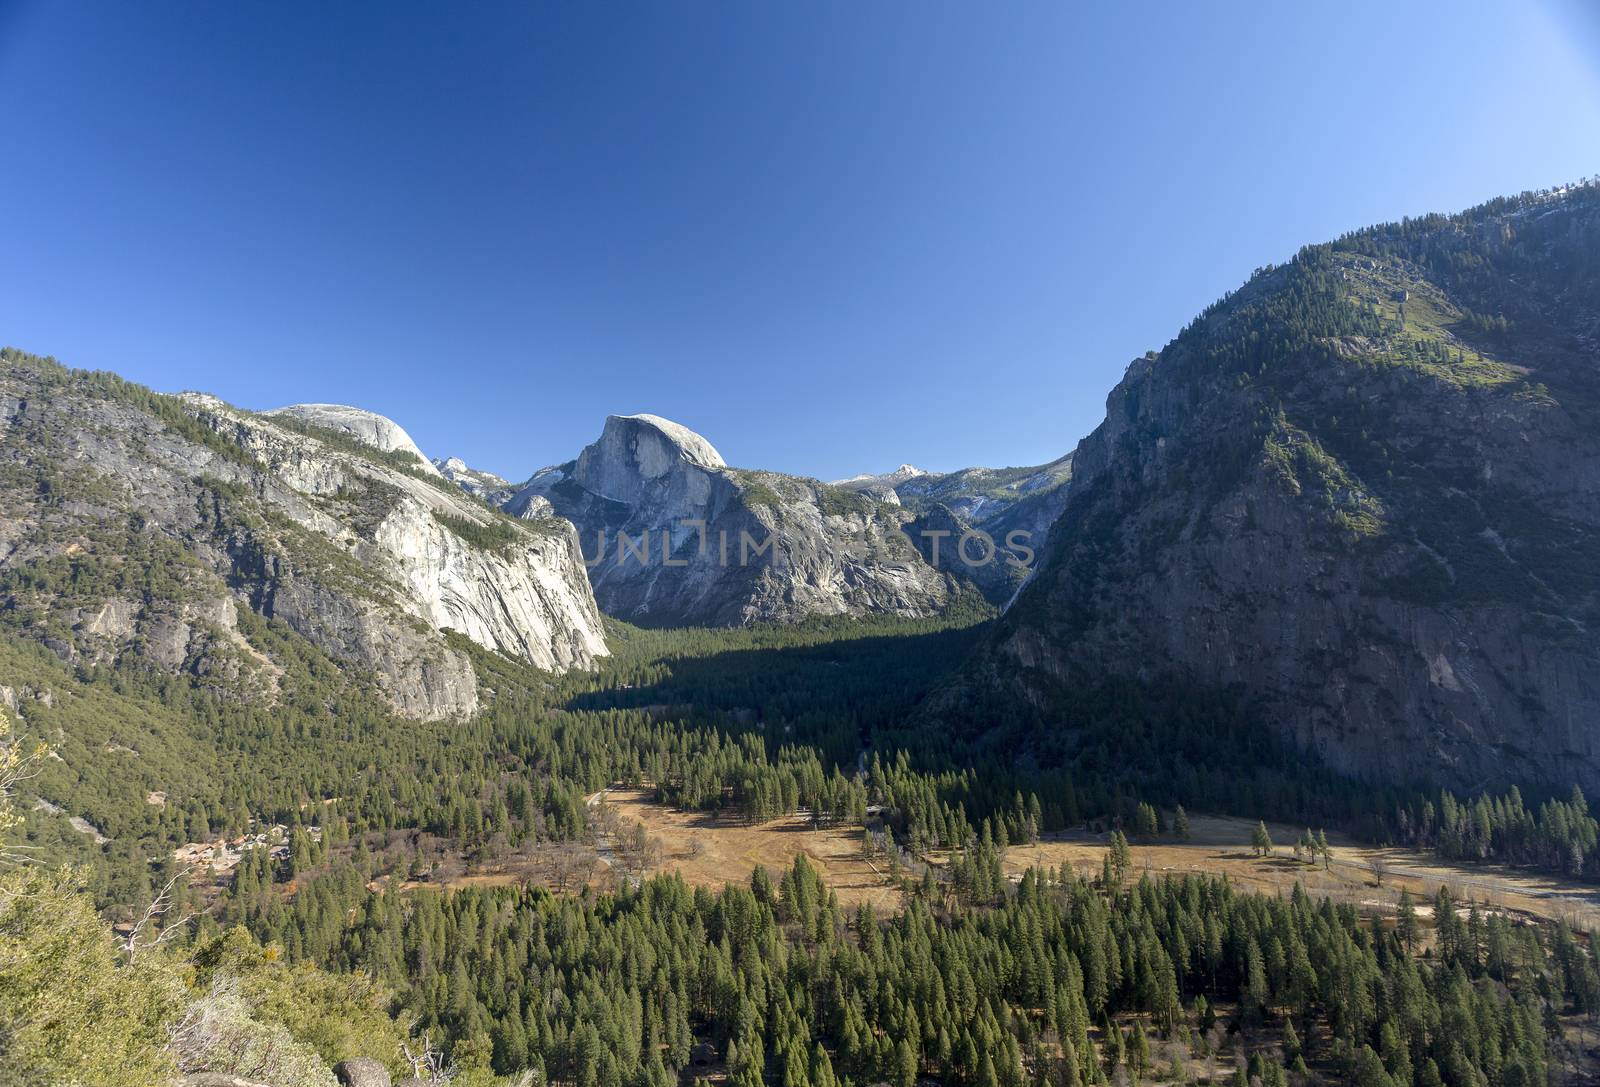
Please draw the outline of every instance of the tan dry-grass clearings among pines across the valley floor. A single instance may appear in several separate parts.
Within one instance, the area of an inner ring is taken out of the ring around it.
[[[757,866],[778,876],[805,855],[846,909],[869,904],[882,914],[898,909],[902,901],[899,880],[907,876],[906,869],[891,871],[885,856],[869,856],[862,850],[864,832],[859,826],[840,823],[818,828],[805,813],[752,824],[733,815],[658,804],[653,789],[627,786],[590,794],[587,808],[595,826],[592,840],[528,842],[493,860],[467,861],[446,839],[424,836],[421,852],[429,858],[427,872],[402,879],[400,887],[534,884],[565,893],[586,884],[603,888],[675,872],[691,887],[720,888],[749,884]],[[1438,888],[1445,887],[1464,906],[1563,921],[1578,932],[1600,930],[1600,885],[1592,882],[1496,864],[1453,864],[1418,850],[1362,845],[1338,832],[1328,834],[1326,863],[1312,863],[1283,845],[1301,834],[1286,824],[1269,824],[1277,845],[1270,855],[1258,856],[1251,848],[1253,829],[1254,823],[1248,820],[1190,816],[1187,840],[1131,840],[1131,874],[1134,879],[1144,874],[1226,874],[1243,890],[1269,895],[1290,893],[1301,884],[1312,898],[1349,903],[1363,913],[1394,909],[1400,892],[1410,890],[1418,914],[1424,917]],[[408,836],[397,832],[394,837]],[[1002,866],[1013,882],[1030,868],[1061,866],[1093,879],[1099,874],[1109,837],[1088,829],[1046,834],[1037,842],[1006,848]],[[222,892],[232,871],[230,863],[216,860],[218,845],[197,844],[179,850],[179,856],[189,861],[200,853],[210,858],[213,879],[203,884],[202,892],[206,898]],[[382,847],[376,840],[373,845]],[[229,860],[237,860],[237,850]],[[942,866],[947,855],[933,852],[923,861]],[[920,871],[918,866],[910,874]],[[394,879],[381,877],[373,885]]]

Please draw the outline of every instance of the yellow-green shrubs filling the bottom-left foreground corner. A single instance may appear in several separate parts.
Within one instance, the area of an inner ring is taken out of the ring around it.
[[[362,975],[290,965],[243,930],[189,956],[130,951],[70,872],[0,876],[0,1061],[6,1084],[126,1087],[226,1073],[333,1087],[331,1066],[402,1068],[406,1031]]]

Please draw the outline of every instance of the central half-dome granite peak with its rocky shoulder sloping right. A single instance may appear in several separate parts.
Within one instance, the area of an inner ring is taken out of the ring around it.
[[[578,525],[600,607],[634,623],[925,616],[957,591],[902,535],[910,514],[728,467],[704,437],[653,415],[608,418],[578,459],[538,472],[506,509],[541,503]]]

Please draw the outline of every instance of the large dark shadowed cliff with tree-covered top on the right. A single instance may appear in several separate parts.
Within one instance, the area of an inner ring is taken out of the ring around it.
[[[1243,692],[1333,767],[1600,789],[1600,194],[1312,247],[1136,360],[978,672]]]

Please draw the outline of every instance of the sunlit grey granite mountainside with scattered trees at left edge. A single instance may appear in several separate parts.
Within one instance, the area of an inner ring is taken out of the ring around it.
[[[248,610],[371,674],[398,712],[442,717],[478,696],[446,628],[547,669],[605,653],[571,525],[482,506],[386,419],[3,362],[3,615],[59,656],[134,655],[272,696]]]

